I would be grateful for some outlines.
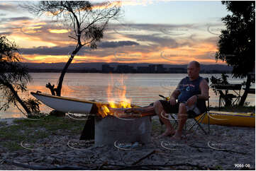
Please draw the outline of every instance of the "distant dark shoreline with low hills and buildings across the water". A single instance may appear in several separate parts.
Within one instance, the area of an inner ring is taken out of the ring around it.
[[[60,73],[65,63],[22,63],[28,72]],[[232,66],[221,64],[201,64],[201,73],[232,73]],[[187,65],[148,63],[72,63],[67,73],[187,73]]]

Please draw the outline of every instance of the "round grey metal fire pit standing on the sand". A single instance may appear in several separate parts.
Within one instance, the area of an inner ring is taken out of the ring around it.
[[[95,117],[95,145],[118,143],[150,143],[150,117],[119,119],[117,117]]]

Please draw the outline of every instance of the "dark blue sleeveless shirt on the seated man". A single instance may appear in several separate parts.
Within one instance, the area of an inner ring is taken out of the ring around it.
[[[183,78],[178,85],[178,89],[180,91],[178,102],[187,102],[187,100],[189,100],[193,95],[201,94],[199,85],[202,80],[203,78],[201,76],[196,78],[194,81],[190,81],[188,76]]]

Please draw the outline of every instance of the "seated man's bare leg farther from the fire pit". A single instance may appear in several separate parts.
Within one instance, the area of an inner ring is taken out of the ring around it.
[[[172,136],[175,139],[181,139],[182,138],[182,129],[184,124],[186,124],[187,121],[187,107],[184,103],[179,104],[179,114],[178,114],[178,129],[174,136]]]

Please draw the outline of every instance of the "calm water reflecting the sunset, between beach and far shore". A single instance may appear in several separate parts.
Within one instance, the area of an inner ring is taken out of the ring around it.
[[[43,93],[50,93],[45,88],[46,83],[57,84],[60,73],[30,73],[33,82],[28,84],[28,90],[40,90]],[[108,74],[108,73],[67,73],[62,87],[62,96],[80,98],[85,100],[107,101],[108,98],[120,100],[122,93],[136,105],[149,105],[155,100],[162,99],[158,95],[169,95],[179,81],[187,76],[186,73],[167,74]],[[201,74],[203,77],[220,77],[221,74]],[[244,80],[228,78],[230,83],[243,83]],[[255,88],[255,85],[252,86]],[[231,93],[231,91],[230,91]],[[243,90],[241,90],[241,95]],[[31,97],[29,93],[21,95],[23,98]],[[218,96],[210,89],[210,105],[218,106]],[[255,95],[249,94],[247,102],[255,105]],[[41,112],[50,112],[51,109],[45,105],[40,106]],[[6,112],[0,111],[0,117],[23,117],[23,114],[11,107]]]

